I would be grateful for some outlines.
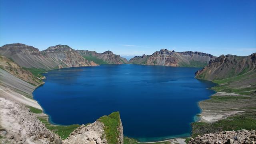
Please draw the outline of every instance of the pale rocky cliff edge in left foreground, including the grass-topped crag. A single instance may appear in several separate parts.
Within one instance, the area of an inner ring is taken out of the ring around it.
[[[119,112],[82,125],[66,140],[46,128],[29,108],[0,98],[0,142],[11,144],[123,144]],[[54,125],[53,125],[54,126]],[[61,126],[58,126],[61,127]],[[64,126],[62,126],[64,127]]]

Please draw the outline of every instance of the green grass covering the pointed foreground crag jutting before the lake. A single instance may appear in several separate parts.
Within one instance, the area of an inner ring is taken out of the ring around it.
[[[102,116],[98,120],[104,124],[104,132],[108,143],[116,144],[119,136],[118,127],[120,126],[119,112],[113,112],[108,116]]]

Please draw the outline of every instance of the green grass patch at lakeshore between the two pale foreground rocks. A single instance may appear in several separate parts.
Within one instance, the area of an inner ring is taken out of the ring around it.
[[[52,130],[54,133],[58,134],[62,140],[68,138],[71,132],[73,132],[76,128],[78,128],[79,124],[72,124],[69,126],[56,126],[49,124],[46,118],[37,117],[43,124],[45,124],[46,128]]]

